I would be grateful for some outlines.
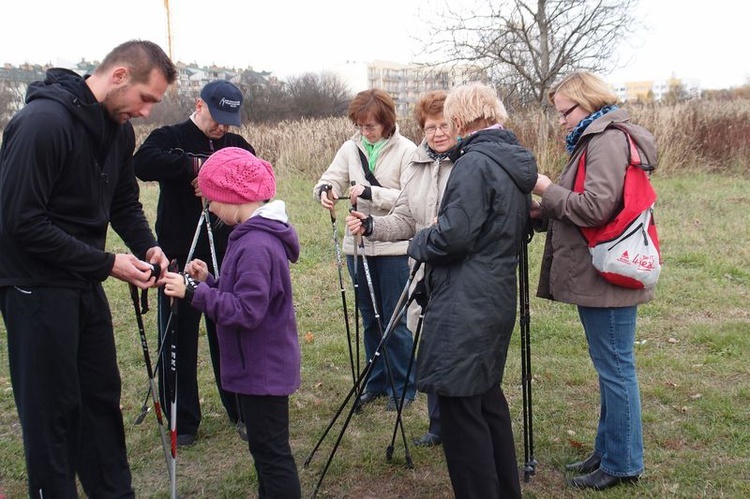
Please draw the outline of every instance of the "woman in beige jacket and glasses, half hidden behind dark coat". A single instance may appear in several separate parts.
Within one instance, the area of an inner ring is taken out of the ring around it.
[[[448,153],[456,145],[456,137],[443,115],[445,90],[433,90],[423,94],[414,107],[414,118],[424,131],[424,139],[417,148],[409,168],[409,181],[401,191],[391,213],[385,216],[365,215],[353,211],[346,224],[352,234],[362,234],[378,241],[405,241],[418,231],[431,225],[438,214],[453,162]],[[423,270],[414,276],[414,283],[422,279]],[[421,307],[413,302],[407,322],[416,332]],[[441,443],[440,411],[437,396],[427,394],[427,409],[430,426],[427,432],[414,440],[418,447],[431,447]]]

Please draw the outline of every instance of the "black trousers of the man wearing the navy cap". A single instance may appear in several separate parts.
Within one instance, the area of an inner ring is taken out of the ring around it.
[[[184,257],[177,257],[180,269],[185,267]],[[203,259],[203,256],[199,256]],[[205,260],[210,265],[210,257]],[[171,311],[170,298],[159,288],[159,323],[166,325]],[[177,330],[177,432],[180,435],[198,433],[201,422],[200,393],[198,389],[198,332],[203,314],[194,309],[184,300],[177,305],[177,315],[172,316],[172,324]],[[216,337],[216,325],[208,318],[206,323],[206,337],[208,339],[208,350],[211,354],[211,365],[213,366],[216,388],[219,391],[221,403],[227,411],[230,421],[236,423],[239,417],[237,398],[234,393],[227,392],[221,387],[221,366],[219,361],[219,340]],[[163,327],[163,326],[162,326]],[[161,348],[164,339],[159,335],[158,346]],[[159,369],[159,397],[164,407],[167,418],[170,417],[171,407],[169,394],[171,384],[169,381],[170,366],[170,338],[166,338],[167,344],[161,348],[162,359]]]

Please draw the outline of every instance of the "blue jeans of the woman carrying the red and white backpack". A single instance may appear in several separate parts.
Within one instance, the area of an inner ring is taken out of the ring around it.
[[[641,397],[635,372],[637,306],[578,307],[589,355],[599,374],[600,413],[594,452],[602,471],[614,476],[643,473]]]

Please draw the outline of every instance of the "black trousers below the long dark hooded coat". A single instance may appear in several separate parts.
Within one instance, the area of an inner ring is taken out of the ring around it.
[[[500,387],[471,397],[438,395],[438,400],[456,499],[520,498],[510,411]]]

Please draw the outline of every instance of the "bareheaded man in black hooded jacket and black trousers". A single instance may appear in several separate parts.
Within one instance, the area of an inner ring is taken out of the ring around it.
[[[176,74],[157,45],[125,42],[90,76],[50,69],[5,129],[0,311],[30,497],[78,497],[76,473],[88,497],[134,497],[102,281],[145,289],[166,271],[138,201],[129,120]],[[108,224],[133,254],[105,251]]]

